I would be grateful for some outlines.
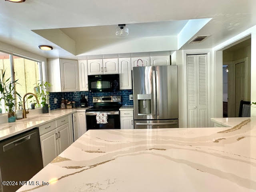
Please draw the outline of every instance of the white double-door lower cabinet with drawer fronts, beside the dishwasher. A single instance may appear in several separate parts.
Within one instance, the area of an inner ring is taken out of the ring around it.
[[[70,146],[73,138],[71,137],[71,128],[69,116],[64,116],[48,124],[39,126],[40,144],[44,167],[54,158]],[[52,127],[55,123],[53,130]],[[57,128],[56,128],[57,127]],[[49,130],[47,132],[47,130]]]

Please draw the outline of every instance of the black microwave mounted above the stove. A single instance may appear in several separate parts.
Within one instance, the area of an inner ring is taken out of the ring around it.
[[[90,92],[119,91],[119,74],[88,75],[88,88]]]

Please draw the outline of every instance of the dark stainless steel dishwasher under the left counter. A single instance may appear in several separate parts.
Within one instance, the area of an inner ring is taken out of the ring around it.
[[[43,168],[38,128],[0,141],[0,192],[14,192]],[[17,181],[4,186],[2,181]]]

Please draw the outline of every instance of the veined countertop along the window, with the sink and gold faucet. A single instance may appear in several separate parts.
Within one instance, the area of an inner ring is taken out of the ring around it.
[[[6,138],[9,138],[11,136],[20,134],[22,132],[31,130],[47,122],[61,118],[62,116],[66,116],[66,115],[75,113],[77,111],[85,111],[86,109],[89,109],[89,108],[91,107],[72,108],[72,109],[63,109],[63,110],[56,109],[56,110],[51,110],[49,111],[49,113],[46,113],[46,114],[35,114],[35,116],[30,115],[29,118],[16,120],[16,122],[13,122],[13,123],[2,123],[0,124],[0,141]],[[40,121],[34,121],[33,120],[34,117],[42,117],[42,118],[40,118]]]

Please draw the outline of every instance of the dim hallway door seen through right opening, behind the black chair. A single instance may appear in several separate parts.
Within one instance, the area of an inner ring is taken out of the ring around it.
[[[245,72],[244,62],[236,64],[236,117],[239,114],[240,101],[244,100]]]

